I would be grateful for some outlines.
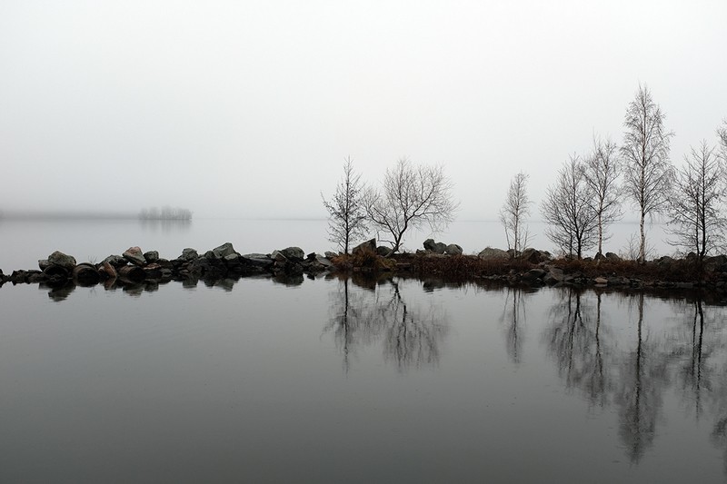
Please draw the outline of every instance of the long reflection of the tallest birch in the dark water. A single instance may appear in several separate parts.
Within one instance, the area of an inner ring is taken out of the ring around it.
[[[620,363],[621,378],[615,393],[619,436],[632,462],[652,446],[662,393],[668,385],[667,365],[643,331],[643,293],[635,295],[638,314],[635,348]]]

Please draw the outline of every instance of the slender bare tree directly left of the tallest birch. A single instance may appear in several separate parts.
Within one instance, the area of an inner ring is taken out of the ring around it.
[[[585,181],[593,192],[593,210],[598,218],[598,253],[603,254],[604,228],[621,219],[623,211],[618,186],[621,169],[616,143],[593,137],[593,153],[583,163]]]

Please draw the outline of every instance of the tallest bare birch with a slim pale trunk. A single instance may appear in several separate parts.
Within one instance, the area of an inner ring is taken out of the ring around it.
[[[669,142],[674,133],[664,128],[665,118],[653,102],[649,88],[639,85],[635,99],[626,109],[621,153],[625,163],[623,189],[639,209],[641,263],[646,262],[644,220],[647,215],[664,212],[672,180]]]

